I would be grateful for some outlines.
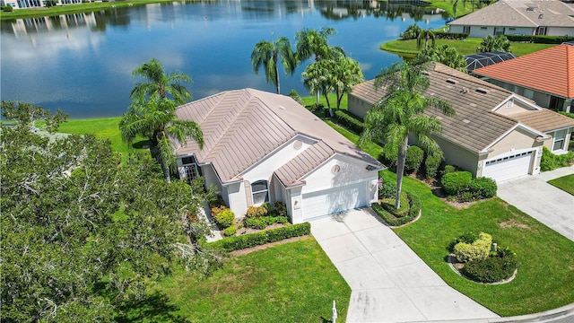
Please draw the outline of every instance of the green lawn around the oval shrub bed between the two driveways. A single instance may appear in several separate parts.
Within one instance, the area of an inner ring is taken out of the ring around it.
[[[329,121],[327,124],[354,143],[359,138]],[[372,156],[382,151],[377,144],[362,148]],[[390,170],[382,170],[381,175],[385,180],[396,180]],[[574,302],[573,241],[497,197],[457,209],[440,200],[420,180],[404,177],[403,188],[420,196],[422,217],[394,231],[457,291],[503,317],[552,310]],[[509,284],[484,285],[455,274],[445,261],[448,245],[466,231],[490,233],[500,247],[514,250],[519,262],[517,277]]]

